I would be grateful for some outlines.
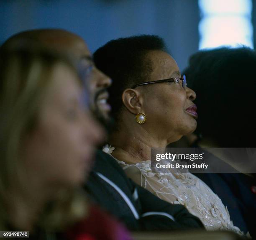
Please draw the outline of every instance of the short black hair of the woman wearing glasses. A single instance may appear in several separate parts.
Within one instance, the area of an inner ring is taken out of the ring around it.
[[[97,68],[113,81],[109,103],[114,120],[122,109],[123,91],[148,80],[152,62],[145,56],[152,50],[167,51],[164,40],[156,35],[140,35],[109,41],[93,54]]]

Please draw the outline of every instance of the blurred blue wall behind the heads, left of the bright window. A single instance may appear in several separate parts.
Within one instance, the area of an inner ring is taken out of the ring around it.
[[[158,34],[180,69],[198,49],[197,0],[0,0],[0,43],[19,31],[64,28],[93,52],[114,38]]]

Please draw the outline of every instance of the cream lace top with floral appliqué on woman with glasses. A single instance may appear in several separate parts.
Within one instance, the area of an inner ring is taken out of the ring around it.
[[[107,153],[112,153],[113,150],[114,148],[110,147],[103,149]],[[184,205],[191,214],[202,221],[206,230],[231,230],[243,235],[243,232],[233,225],[228,209],[224,207],[218,195],[197,176],[189,172],[152,172],[150,160],[136,164],[117,161],[128,177],[138,185],[166,202]]]

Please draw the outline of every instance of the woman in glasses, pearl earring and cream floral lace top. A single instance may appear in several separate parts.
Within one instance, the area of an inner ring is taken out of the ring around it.
[[[241,233],[220,198],[196,176],[151,170],[151,148],[165,148],[197,126],[196,94],[186,87],[163,40],[145,35],[113,40],[95,52],[94,60],[113,80],[109,92],[116,125],[109,138],[112,148],[103,151],[111,153],[139,185],[187,207],[207,230]]]

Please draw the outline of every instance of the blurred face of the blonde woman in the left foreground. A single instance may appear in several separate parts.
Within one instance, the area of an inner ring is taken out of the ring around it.
[[[104,136],[82,102],[82,87],[65,64],[50,76],[36,128],[25,142],[28,173],[56,186],[82,183],[90,171],[95,145]]]

